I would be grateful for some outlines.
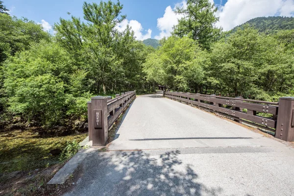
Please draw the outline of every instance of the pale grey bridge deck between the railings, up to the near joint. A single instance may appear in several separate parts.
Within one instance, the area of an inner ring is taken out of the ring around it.
[[[261,146],[262,138],[189,105],[145,95],[133,102],[109,149]]]

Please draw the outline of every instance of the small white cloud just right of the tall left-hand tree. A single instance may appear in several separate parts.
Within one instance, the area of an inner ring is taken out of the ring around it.
[[[146,40],[148,38],[151,38],[152,30],[151,29],[145,30],[145,34],[143,34],[144,28],[142,27],[141,23],[139,23],[136,20],[128,21],[125,19],[125,20],[123,20],[122,23],[117,25],[116,28],[120,31],[123,31],[127,25],[129,25],[132,28],[137,40]]]

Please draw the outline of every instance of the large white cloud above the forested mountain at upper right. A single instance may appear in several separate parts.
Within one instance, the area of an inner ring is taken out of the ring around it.
[[[216,25],[230,30],[256,17],[294,16],[294,0],[228,0],[219,6],[217,16]]]

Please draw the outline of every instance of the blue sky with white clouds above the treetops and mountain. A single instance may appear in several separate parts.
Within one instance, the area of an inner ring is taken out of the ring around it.
[[[83,17],[83,0],[3,0],[10,9],[10,14],[26,17],[43,24],[46,30],[52,32],[50,26],[59,18],[69,18],[67,12],[73,16]],[[213,0],[210,0],[213,1]],[[97,2],[99,0],[87,2]],[[184,0],[121,0],[122,14],[127,15],[127,21],[119,26],[120,29],[130,25],[135,31],[137,39],[157,38],[169,36],[172,25],[178,17],[172,12],[175,5],[184,6]],[[217,16],[224,30],[230,30],[236,25],[259,16],[293,16],[294,0],[214,0],[219,7]]]

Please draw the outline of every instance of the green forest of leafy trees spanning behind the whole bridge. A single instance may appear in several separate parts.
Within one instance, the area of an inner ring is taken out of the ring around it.
[[[130,27],[116,28],[126,18],[119,1],[84,2],[83,19],[60,18],[54,34],[5,9],[0,8],[2,128],[80,127],[91,97],[148,93],[158,84],[169,91],[269,101],[294,95],[294,29],[279,24],[265,32],[247,24],[224,32],[215,25],[217,8],[209,0],[178,7],[183,18],[156,49],[137,41]]]

